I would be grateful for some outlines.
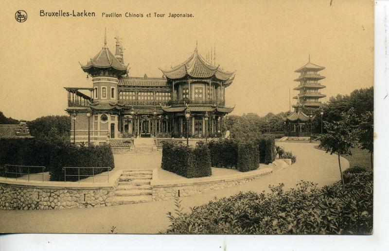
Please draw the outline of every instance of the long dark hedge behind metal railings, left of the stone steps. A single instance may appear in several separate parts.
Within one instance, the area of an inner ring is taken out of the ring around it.
[[[45,171],[50,171],[51,181],[64,181],[62,167],[115,167],[108,145],[76,147],[70,142],[48,138],[0,139],[0,166],[5,164],[44,166]],[[30,173],[41,171],[40,168],[30,168]],[[105,171],[104,168],[95,169],[94,174]],[[67,171],[67,174],[78,174],[78,171]],[[89,176],[92,170],[83,170],[80,174]],[[78,177],[67,177],[66,180],[75,181]]]

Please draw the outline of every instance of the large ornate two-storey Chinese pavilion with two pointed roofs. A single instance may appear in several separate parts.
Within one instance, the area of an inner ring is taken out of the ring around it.
[[[128,76],[123,48],[116,39],[115,55],[103,48],[86,65],[93,87],[65,87],[71,114],[71,140],[105,143],[107,138],[220,136],[225,88],[233,72],[207,62],[197,51],[161,78]]]

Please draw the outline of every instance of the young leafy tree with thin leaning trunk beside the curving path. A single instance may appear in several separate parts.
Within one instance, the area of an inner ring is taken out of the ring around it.
[[[342,167],[340,166],[340,155],[352,155],[351,148],[360,145],[361,135],[360,117],[355,114],[354,108],[340,115],[339,121],[324,122],[326,134],[318,136],[319,148],[330,154],[336,153],[338,156],[340,178],[344,185]]]

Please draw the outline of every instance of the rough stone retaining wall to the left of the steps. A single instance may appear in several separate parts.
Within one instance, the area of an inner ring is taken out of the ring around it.
[[[110,206],[121,173],[119,171],[112,175],[109,183],[94,184],[0,178],[0,209],[48,210]]]

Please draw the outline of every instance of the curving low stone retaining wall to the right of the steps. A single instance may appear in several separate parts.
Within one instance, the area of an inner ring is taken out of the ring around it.
[[[262,170],[255,170],[255,174],[249,174],[246,177],[239,175],[238,177],[232,177],[229,179],[210,180],[203,182],[192,182],[188,179],[187,183],[180,184],[158,184],[157,181],[151,184],[153,189],[153,201],[163,201],[175,198],[179,194],[179,197],[186,197],[195,194],[206,193],[213,190],[220,190],[226,187],[231,187],[243,183],[250,182],[265,174],[271,173],[272,168],[264,168]],[[154,180],[153,172],[153,180]]]

